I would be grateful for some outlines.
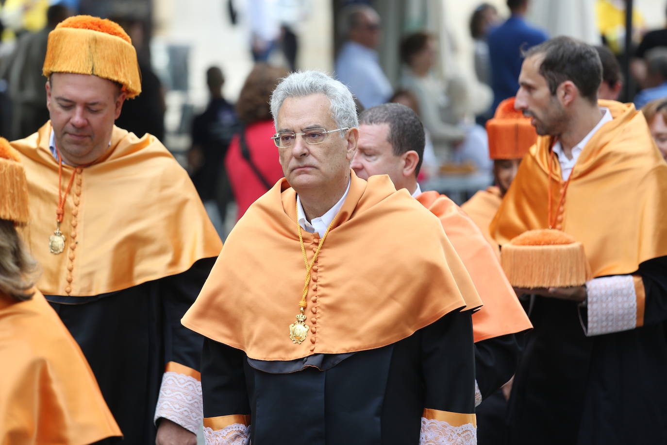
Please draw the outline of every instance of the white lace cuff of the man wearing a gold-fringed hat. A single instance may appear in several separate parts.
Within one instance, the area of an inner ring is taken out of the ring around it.
[[[203,422],[201,382],[178,372],[165,372],[155,407],[154,420],[159,418],[169,419],[197,434]]]

